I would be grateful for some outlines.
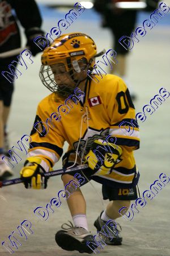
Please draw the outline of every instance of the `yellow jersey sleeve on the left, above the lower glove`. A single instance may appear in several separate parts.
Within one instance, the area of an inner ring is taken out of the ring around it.
[[[47,122],[46,119],[48,119]],[[65,138],[63,138],[61,131],[61,122],[50,122],[50,113],[44,110],[42,111],[39,105],[31,131],[32,141],[30,143],[31,148],[28,151],[28,156],[45,158],[50,162],[50,165],[53,166],[58,162],[63,153],[62,147]]]

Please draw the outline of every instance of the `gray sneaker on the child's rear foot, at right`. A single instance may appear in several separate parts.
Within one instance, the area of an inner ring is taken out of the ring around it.
[[[101,214],[102,213],[103,212],[101,212]],[[121,245],[122,237],[120,236],[120,232],[122,228],[120,224],[118,224],[116,221],[113,221],[113,220],[109,220],[109,221],[101,220],[101,214],[94,223],[94,226],[97,229],[97,232],[100,232],[98,233],[98,236],[101,236],[101,238],[104,240],[105,243],[107,243],[107,245]],[[120,227],[120,230],[117,228],[117,226]],[[109,233],[109,236],[105,230],[107,230],[107,232]]]

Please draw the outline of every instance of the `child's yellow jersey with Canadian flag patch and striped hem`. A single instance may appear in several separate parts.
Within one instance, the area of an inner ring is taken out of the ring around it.
[[[69,111],[66,111],[67,102],[55,93],[39,103],[28,156],[40,156],[53,166],[61,157],[63,144],[67,141],[68,150],[76,151],[78,147],[78,154],[84,159],[95,139],[105,139],[112,134],[116,137],[116,144],[122,147],[121,160],[111,174],[94,174],[93,179],[116,187],[131,187],[139,178],[133,155],[133,150],[139,148],[134,105],[120,77],[106,75],[103,79],[97,76],[97,79],[97,84],[87,80],[84,93],[79,94],[79,98],[82,94],[82,101],[71,100]]]

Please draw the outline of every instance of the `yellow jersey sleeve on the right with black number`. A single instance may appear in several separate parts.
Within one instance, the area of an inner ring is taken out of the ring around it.
[[[135,108],[128,88],[122,79],[117,80],[108,102],[110,119],[109,134],[114,135],[115,144],[128,151],[139,148],[139,126],[135,119]]]

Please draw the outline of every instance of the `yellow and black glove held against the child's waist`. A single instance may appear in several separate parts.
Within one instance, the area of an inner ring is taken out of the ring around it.
[[[95,140],[92,149],[85,156],[88,166],[99,174],[110,174],[113,167],[121,161],[122,148],[101,139]],[[98,158],[98,159],[97,159]]]

